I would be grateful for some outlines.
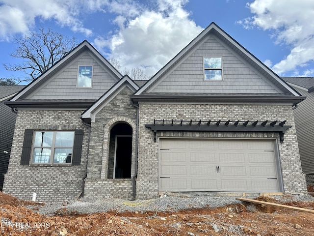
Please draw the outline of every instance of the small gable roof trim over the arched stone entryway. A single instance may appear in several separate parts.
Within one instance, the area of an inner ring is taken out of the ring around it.
[[[118,81],[114,86],[105,92],[91,107],[84,111],[81,115],[81,119],[85,122],[90,123],[95,121],[96,114],[102,110],[106,104],[108,104],[122,89],[128,87],[135,92],[139,89],[138,85],[130,79],[128,75],[125,75],[120,81]]]

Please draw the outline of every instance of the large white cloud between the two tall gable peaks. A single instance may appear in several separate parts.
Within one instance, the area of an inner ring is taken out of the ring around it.
[[[188,18],[186,0],[159,0],[155,9],[142,8],[136,17],[118,16],[119,30],[109,39],[98,37],[94,44],[120,61],[122,68],[141,67],[153,75],[183,49],[202,28]]]

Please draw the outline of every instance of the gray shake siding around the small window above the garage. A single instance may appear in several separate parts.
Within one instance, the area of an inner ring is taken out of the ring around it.
[[[204,81],[203,57],[222,57],[224,81]],[[182,64],[173,68],[151,92],[276,93],[262,75],[215,36],[209,36]]]

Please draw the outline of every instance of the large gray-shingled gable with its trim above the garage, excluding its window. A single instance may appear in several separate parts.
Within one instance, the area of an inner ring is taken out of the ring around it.
[[[222,58],[222,81],[204,81],[204,57]],[[214,23],[134,95],[160,92],[272,93],[299,96],[298,92]]]

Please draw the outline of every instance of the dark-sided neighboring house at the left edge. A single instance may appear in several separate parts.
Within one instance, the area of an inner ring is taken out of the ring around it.
[[[25,86],[0,86],[0,191],[8,170],[16,114],[3,101],[13,97]]]

